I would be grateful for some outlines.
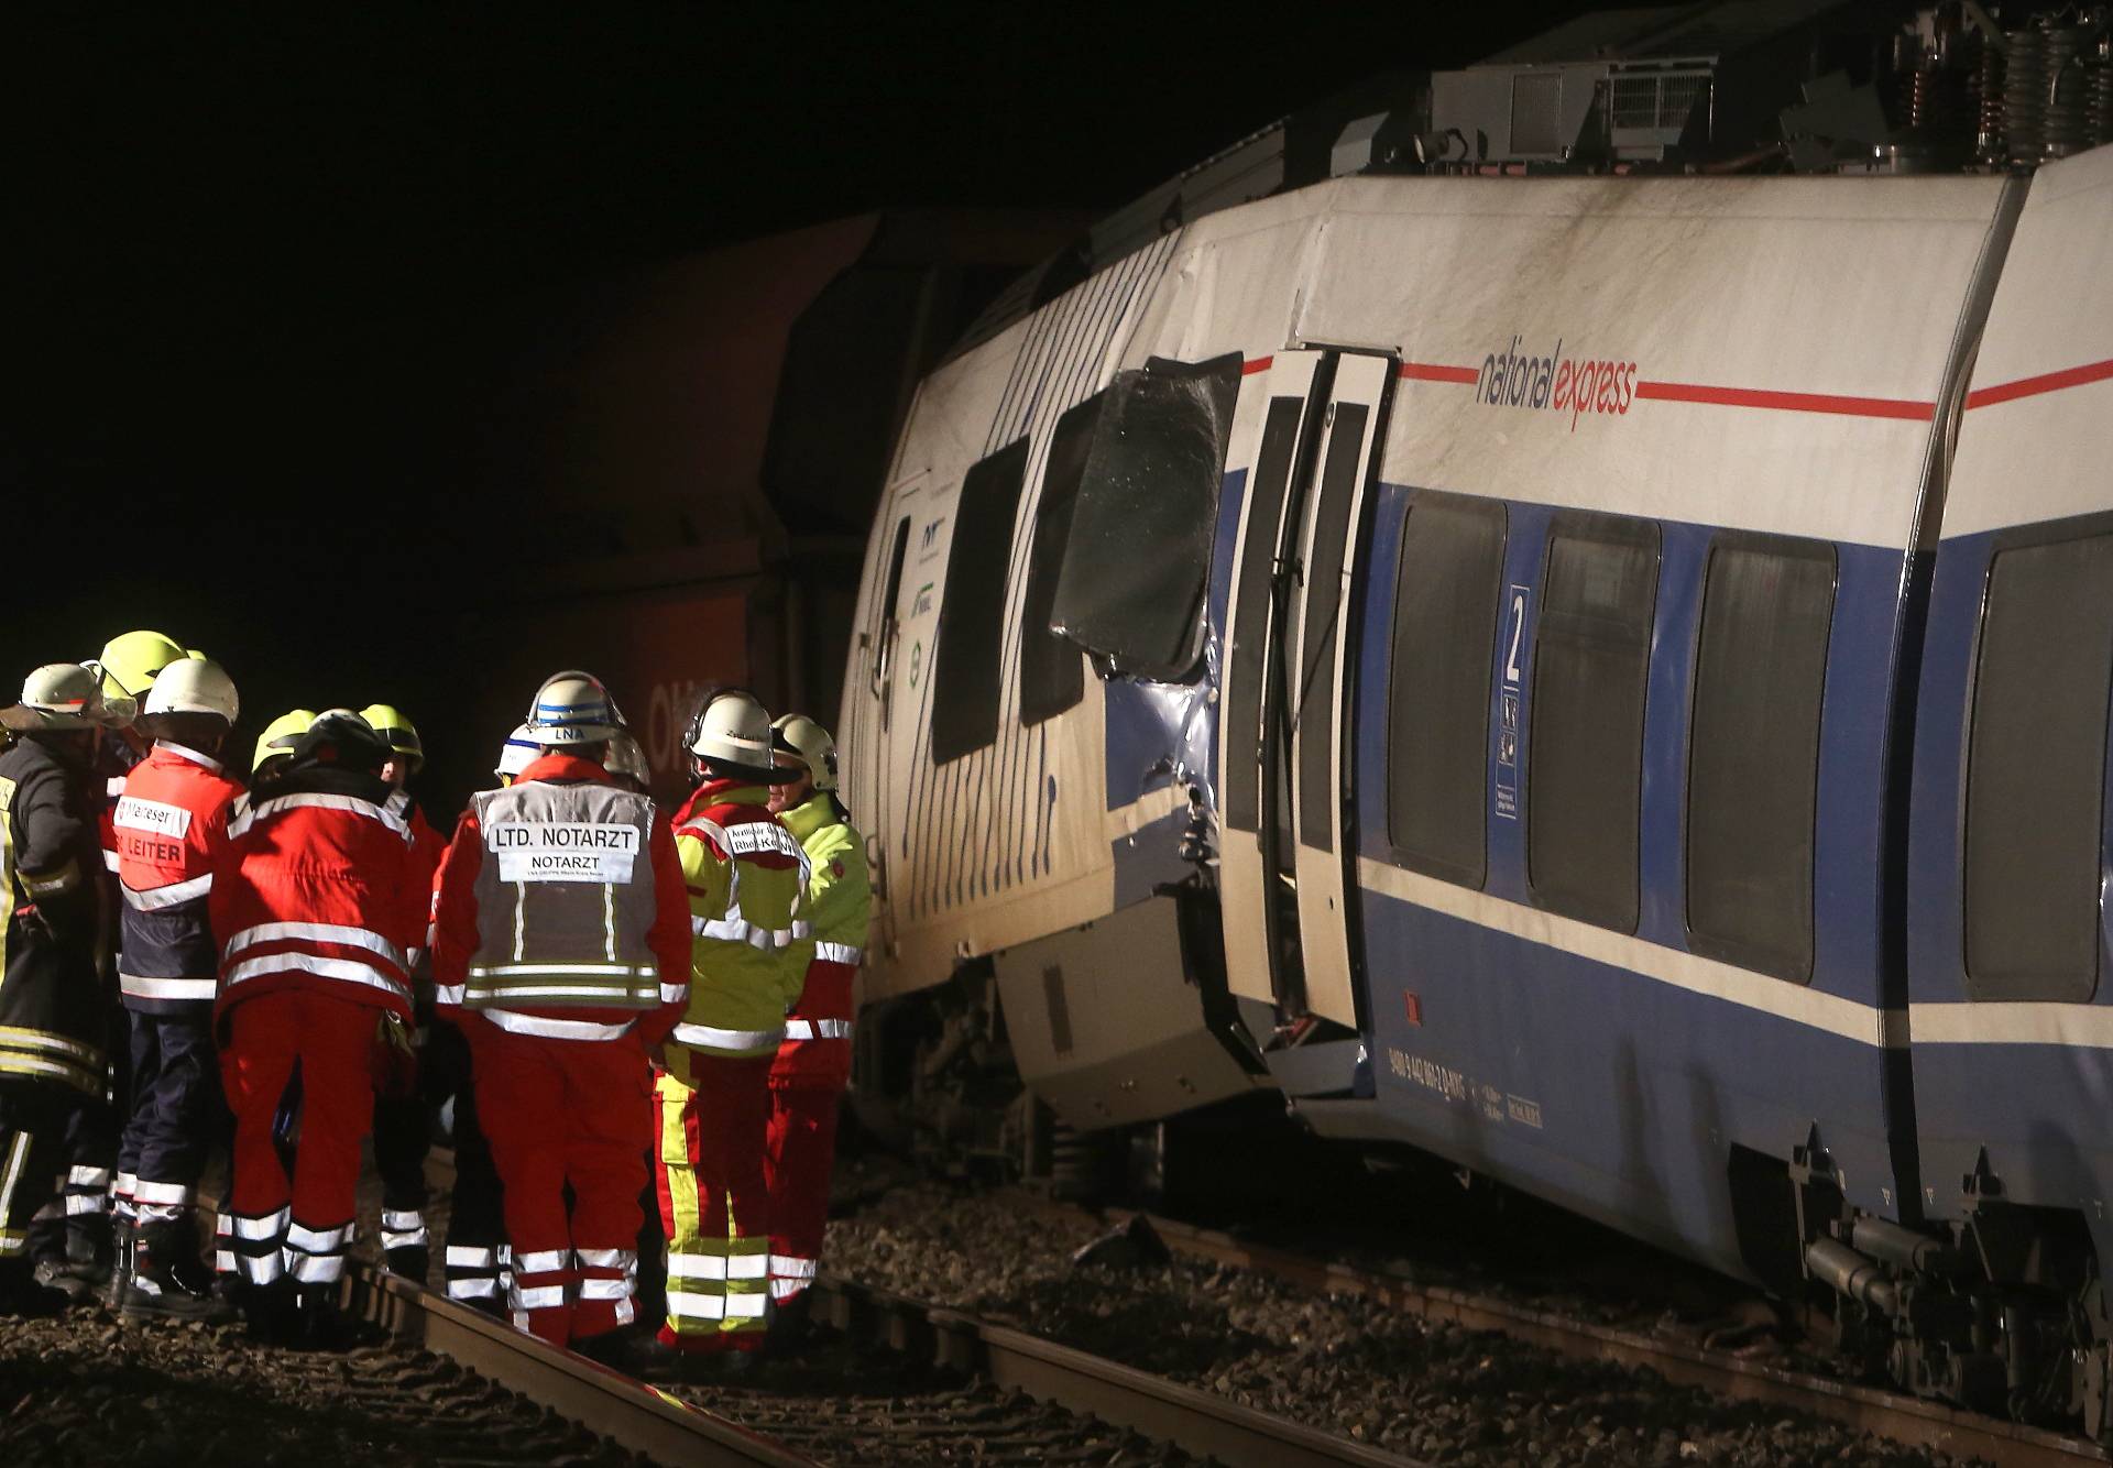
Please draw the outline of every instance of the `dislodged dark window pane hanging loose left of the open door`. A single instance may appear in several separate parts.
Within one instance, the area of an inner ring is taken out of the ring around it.
[[[1240,357],[1118,372],[1071,507],[1050,625],[1111,674],[1196,672]]]

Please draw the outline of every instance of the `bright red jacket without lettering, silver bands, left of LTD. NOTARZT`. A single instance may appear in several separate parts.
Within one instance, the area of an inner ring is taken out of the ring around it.
[[[425,938],[410,796],[332,767],[243,796],[213,870],[211,921],[218,1014],[308,989],[410,1020],[410,951]]]

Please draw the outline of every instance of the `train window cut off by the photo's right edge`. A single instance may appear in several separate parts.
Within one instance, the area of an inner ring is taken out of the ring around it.
[[[1965,961],[1974,999],[2098,989],[2113,534],[1988,564],[1967,735]]]

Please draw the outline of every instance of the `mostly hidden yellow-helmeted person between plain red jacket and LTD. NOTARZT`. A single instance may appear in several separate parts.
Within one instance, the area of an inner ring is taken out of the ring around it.
[[[425,767],[425,746],[418,727],[389,703],[370,703],[359,716],[389,741],[389,760],[382,763],[382,779],[397,790],[410,786],[412,775]],[[410,801],[412,855],[423,872],[423,889],[431,893],[433,877],[440,872],[440,858],[448,843],[425,820],[418,801]],[[431,1267],[431,1234],[425,1227],[425,1155],[433,1147],[433,1115],[427,1105],[425,1086],[433,1079],[431,1018],[433,1018],[433,974],[425,957],[425,944],[412,955],[414,1018],[412,1048],[420,1052],[418,1088],[410,1096],[380,1096],[374,1103],[374,1170],[382,1179],[382,1261],[391,1274],[425,1284]]]

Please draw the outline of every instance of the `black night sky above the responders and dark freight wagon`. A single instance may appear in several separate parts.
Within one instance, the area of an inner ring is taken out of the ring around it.
[[[1583,8],[17,11],[0,680],[146,625],[245,737],[370,699],[452,737],[448,621],[509,570],[475,528],[539,511],[484,427],[564,304],[873,207],[1109,209]]]

